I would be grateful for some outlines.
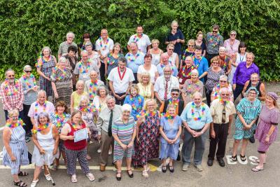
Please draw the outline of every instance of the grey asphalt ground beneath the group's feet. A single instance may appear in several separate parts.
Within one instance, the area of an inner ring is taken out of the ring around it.
[[[280,95],[280,83],[270,83],[266,84],[268,91],[277,92]],[[5,124],[5,118],[3,115],[2,104],[0,104],[0,121],[2,122],[0,126]],[[230,162],[230,156],[232,153],[232,134],[235,132],[235,125],[232,124],[232,132],[228,137],[228,144],[226,150],[225,167],[220,167],[218,162],[215,160],[212,167],[207,166],[207,155],[209,153],[209,141],[206,143],[204,158],[202,160],[203,172],[197,172],[195,167],[191,165],[187,172],[181,171],[181,161],[174,162],[174,173],[170,173],[167,169],[166,173],[162,173],[157,170],[160,166],[160,160],[155,159],[151,161],[151,168],[154,170],[149,173],[149,178],[145,179],[141,176],[141,171],[139,169],[134,170],[134,178],[130,179],[125,171],[123,171],[123,177],[121,181],[116,180],[116,171],[113,167],[108,167],[106,172],[99,172],[99,153],[97,153],[98,144],[90,144],[90,155],[92,160],[90,160],[89,165],[91,172],[95,176],[95,181],[91,182],[87,177],[77,169],[77,179],[78,183],[71,183],[70,176],[66,174],[66,169],[62,165],[61,169],[56,172],[52,172],[52,178],[55,181],[56,186],[279,186],[280,183],[280,162],[279,162],[279,149],[280,141],[279,139],[269,148],[267,163],[265,164],[265,169],[261,172],[252,172],[251,168],[255,165],[251,160],[258,157],[257,146],[258,142],[255,144],[248,144],[246,156],[247,161],[236,162],[232,164]],[[208,132],[207,132],[208,133]],[[2,133],[0,133],[0,138],[2,139]],[[34,144],[30,141],[28,143],[29,151],[32,153]],[[240,147],[239,147],[240,148]],[[3,141],[0,141],[0,152],[3,149]],[[193,155],[193,153],[192,153]],[[61,160],[61,164],[62,164]],[[78,165],[78,162],[77,162]],[[125,164],[123,164],[125,166]],[[20,179],[25,181],[28,186],[30,186],[33,179],[34,167],[29,165],[27,168],[23,169],[29,172],[29,176],[21,176]],[[37,186],[52,186],[50,181],[46,181],[43,173],[39,177],[39,182]],[[10,175],[10,169],[8,167],[3,167],[0,165],[0,186],[13,186],[13,179]]]

